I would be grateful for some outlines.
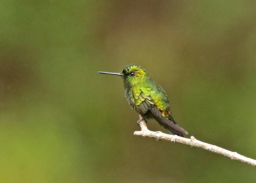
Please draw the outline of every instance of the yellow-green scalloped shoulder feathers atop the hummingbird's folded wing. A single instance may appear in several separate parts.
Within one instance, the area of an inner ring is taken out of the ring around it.
[[[140,107],[140,111],[143,114],[148,112],[153,107],[153,105],[155,105],[153,99],[149,96],[150,94],[148,92],[145,93],[141,90],[133,91],[135,105]]]

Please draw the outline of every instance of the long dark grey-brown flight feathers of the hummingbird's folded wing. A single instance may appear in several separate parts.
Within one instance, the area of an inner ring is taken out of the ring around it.
[[[172,135],[187,135],[188,132],[185,131],[180,126],[174,124],[171,120],[165,118],[156,107],[152,107],[149,111],[149,116],[156,119],[159,125],[163,126],[165,129],[169,130]]]

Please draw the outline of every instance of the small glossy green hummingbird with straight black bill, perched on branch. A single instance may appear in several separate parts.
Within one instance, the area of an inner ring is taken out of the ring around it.
[[[148,72],[139,65],[127,65],[121,73],[98,72],[121,76],[124,81],[125,97],[133,110],[137,111],[142,120],[154,118],[172,135],[187,135],[188,132],[179,127],[172,117],[168,96],[165,94]],[[138,120],[139,124],[141,120]]]

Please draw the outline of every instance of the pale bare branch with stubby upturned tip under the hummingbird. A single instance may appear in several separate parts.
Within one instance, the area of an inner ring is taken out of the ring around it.
[[[141,116],[140,116],[140,119],[142,119]],[[238,161],[241,161],[241,162],[244,162],[244,163],[251,164],[252,166],[256,166],[256,160],[255,159],[245,157],[243,155],[238,154],[237,152],[232,152],[232,151],[220,148],[220,147],[212,145],[212,144],[208,144],[208,143],[205,143],[205,142],[202,142],[202,141],[198,141],[193,136],[191,136],[190,139],[188,139],[188,138],[180,137],[178,135],[171,135],[171,134],[162,133],[160,131],[159,132],[153,132],[153,131],[148,130],[147,124],[144,120],[142,120],[140,122],[140,128],[141,128],[141,131],[135,131],[133,134],[134,135],[140,135],[140,136],[143,136],[143,137],[153,137],[156,140],[166,140],[166,141],[178,142],[178,143],[187,144],[187,145],[194,146],[194,147],[203,148],[203,149],[221,154],[223,156],[228,156],[233,160],[238,160]]]

